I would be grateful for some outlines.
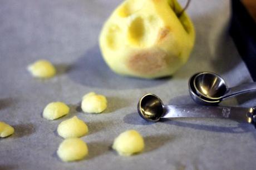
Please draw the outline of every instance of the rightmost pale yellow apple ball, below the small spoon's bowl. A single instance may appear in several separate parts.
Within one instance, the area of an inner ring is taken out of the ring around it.
[[[112,148],[121,156],[131,156],[144,149],[144,139],[135,130],[125,131],[115,138]]]

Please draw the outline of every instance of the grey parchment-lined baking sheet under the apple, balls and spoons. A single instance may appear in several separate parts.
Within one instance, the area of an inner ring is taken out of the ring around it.
[[[229,1],[191,2],[194,51],[173,77],[157,80],[117,76],[101,58],[100,29],[120,2],[0,1],[0,120],[16,130],[0,139],[0,169],[254,169],[256,131],[250,124],[201,118],[147,123],[136,112],[145,93],[166,104],[194,104],[188,93],[194,72],[216,72],[229,86],[252,81],[228,36]],[[40,58],[56,64],[56,77],[42,81],[29,75],[27,65]],[[105,113],[81,112],[81,97],[91,91],[107,97]],[[255,94],[221,104],[252,107]],[[69,104],[70,115],[43,119],[43,108],[53,101]],[[88,124],[90,133],[82,139],[89,155],[63,163],[56,156],[63,141],[56,128],[74,115]],[[127,129],[144,136],[143,153],[121,157],[111,151],[114,138]]]

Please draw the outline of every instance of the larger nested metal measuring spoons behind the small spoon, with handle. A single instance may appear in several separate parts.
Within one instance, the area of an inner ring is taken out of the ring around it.
[[[256,83],[246,83],[229,88],[224,79],[211,72],[196,73],[189,79],[189,93],[196,103],[217,105],[226,98],[255,91]]]

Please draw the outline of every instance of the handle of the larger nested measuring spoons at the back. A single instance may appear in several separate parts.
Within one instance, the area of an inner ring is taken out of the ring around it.
[[[231,87],[228,89],[228,92],[224,94],[223,99],[237,96],[241,93],[255,91],[256,90],[256,83],[246,83],[241,84],[239,86]]]

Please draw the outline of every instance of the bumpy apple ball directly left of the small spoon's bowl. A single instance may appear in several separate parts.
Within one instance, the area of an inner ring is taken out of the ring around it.
[[[81,108],[85,113],[101,113],[107,108],[107,99],[105,96],[90,92],[83,96]]]

